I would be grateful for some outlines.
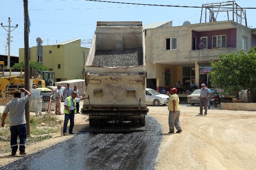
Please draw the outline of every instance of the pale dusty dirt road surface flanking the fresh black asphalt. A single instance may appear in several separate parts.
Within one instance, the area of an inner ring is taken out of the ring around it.
[[[199,105],[180,104],[180,123],[183,132],[170,134],[167,106],[148,107],[149,115],[162,125],[162,141],[154,169],[255,169],[256,112],[219,110],[212,105],[205,116],[198,115]],[[75,133],[88,126],[86,119],[85,115],[75,115]],[[72,136],[62,136],[60,132],[53,139],[28,145],[26,151],[35,153]],[[10,153],[0,155],[0,166],[19,158],[10,156]]]

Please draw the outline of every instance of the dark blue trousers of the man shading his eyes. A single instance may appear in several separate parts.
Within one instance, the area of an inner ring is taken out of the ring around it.
[[[19,151],[25,151],[27,127],[26,124],[10,126],[11,131],[11,151],[18,150],[17,138],[19,136]]]

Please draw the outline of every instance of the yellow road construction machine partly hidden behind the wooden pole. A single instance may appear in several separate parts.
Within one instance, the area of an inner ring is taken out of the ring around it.
[[[5,77],[4,71],[4,61],[0,61],[0,67],[2,67],[3,71],[0,72],[0,104],[6,104],[13,98],[13,94],[15,91],[18,91],[19,88],[24,88],[25,80],[21,77],[22,69],[19,75],[11,75],[11,69],[9,72],[9,76]],[[42,77],[38,76],[36,79],[31,77],[33,80],[33,84],[36,84],[37,87],[45,87],[45,80]]]

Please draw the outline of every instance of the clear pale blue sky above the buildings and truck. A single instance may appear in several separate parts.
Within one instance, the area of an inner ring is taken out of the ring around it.
[[[199,6],[206,3],[225,1],[214,0],[108,0],[112,2],[128,2],[157,5]],[[256,8],[254,0],[235,1],[242,8]],[[8,26],[18,24],[11,32],[10,55],[18,56],[19,48],[24,48],[24,13],[23,0],[0,0],[0,23]],[[181,26],[184,21],[191,24],[200,22],[201,8],[165,7],[129,5],[86,0],[28,0],[29,18],[31,21],[29,47],[36,46],[36,38],[44,40],[43,45],[52,45],[70,39],[92,39],[97,21],[142,21],[143,25],[158,21],[173,21],[173,26]],[[203,16],[204,16],[203,10]],[[247,24],[256,28],[256,9],[246,9]],[[209,17],[209,14],[207,13]],[[229,13],[229,17],[232,14]],[[217,21],[227,20],[227,13],[217,15]],[[203,20],[204,21],[204,20]],[[245,25],[245,22],[243,21]],[[8,28],[6,27],[8,30]],[[13,29],[13,28],[12,28]],[[12,30],[11,29],[11,30]],[[0,54],[5,55],[8,32],[0,27]],[[90,48],[90,45],[82,45]],[[8,49],[6,49],[8,55]]]

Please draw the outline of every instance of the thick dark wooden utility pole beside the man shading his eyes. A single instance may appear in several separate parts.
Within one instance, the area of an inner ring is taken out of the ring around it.
[[[24,75],[25,89],[29,91],[29,42],[28,42],[28,0],[23,0],[24,6]],[[27,134],[30,135],[30,110],[29,101],[25,105],[25,118],[27,125]]]

